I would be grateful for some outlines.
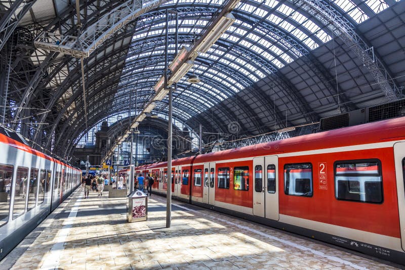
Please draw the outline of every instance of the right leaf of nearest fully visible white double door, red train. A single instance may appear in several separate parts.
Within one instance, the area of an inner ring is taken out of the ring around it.
[[[278,156],[264,158],[265,217],[278,220]]]

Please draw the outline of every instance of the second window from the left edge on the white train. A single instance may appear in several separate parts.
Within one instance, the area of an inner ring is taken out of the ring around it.
[[[14,189],[13,219],[25,211],[25,193],[28,190],[28,168],[17,167],[16,185]]]

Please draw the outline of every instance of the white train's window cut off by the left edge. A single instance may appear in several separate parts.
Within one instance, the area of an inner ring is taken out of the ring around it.
[[[0,165],[0,227],[9,220],[13,169],[10,165]]]

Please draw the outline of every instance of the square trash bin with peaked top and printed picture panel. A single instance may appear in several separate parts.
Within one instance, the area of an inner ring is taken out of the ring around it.
[[[148,219],[148,196],[135,190],[128,195],[128,222],[143,221]]]

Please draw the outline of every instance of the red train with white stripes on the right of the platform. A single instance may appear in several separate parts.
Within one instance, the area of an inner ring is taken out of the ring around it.
[[[177,159],[173,168],[174,198],[405,263],[405,117]]]

